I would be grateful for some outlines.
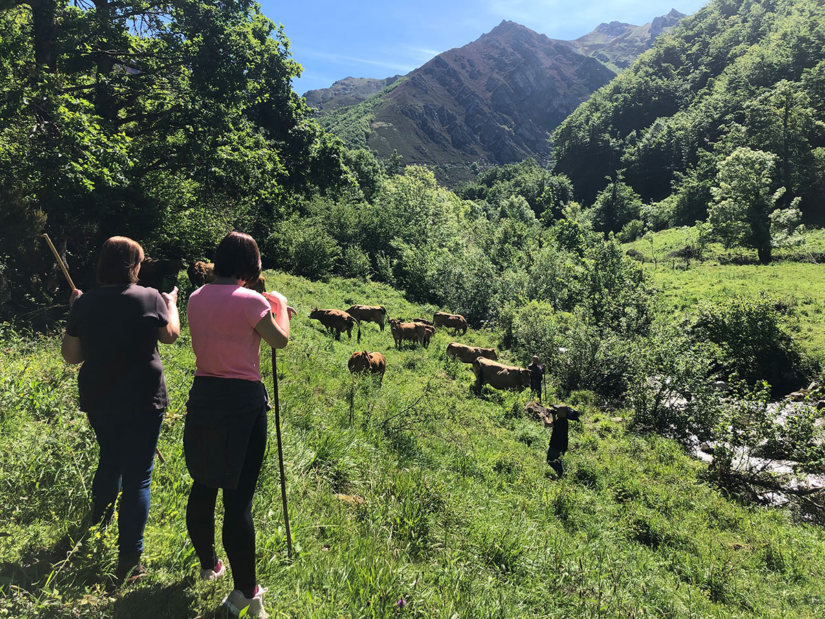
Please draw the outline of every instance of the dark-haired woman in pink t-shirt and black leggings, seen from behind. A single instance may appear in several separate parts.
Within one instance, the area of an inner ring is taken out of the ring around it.
[[[189,297],[186,314],[196,356],[186,402],[183,447],[192,489],[186,528],[200,560],[200,578],[224,575],[214,548],[214,506],[224,489],[223,541],[235,588],[224,600],[238,616],[266,617],[266,589],[255,576],[252,496],[266,451],[269,401],[261,381],[261,339],[273,348],[290,340],[295,310],[277,292],[244,288],[261,275],[261,254],[248,234],[230,232],[214,255],[218,278]]]

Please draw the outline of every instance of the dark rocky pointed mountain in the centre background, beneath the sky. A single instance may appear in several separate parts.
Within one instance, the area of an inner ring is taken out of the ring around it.
[[[449,50],[389,91],[321,119],[353,146],[404,163],[547,158],[548,131],[614,73],[512,21]],[[353,127],[358,127],[353,130]]]

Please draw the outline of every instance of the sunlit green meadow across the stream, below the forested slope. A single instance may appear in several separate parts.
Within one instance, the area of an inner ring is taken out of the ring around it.
[[[778,259],[769,265],[758,263],[755,250],[726,250],[720,243],[709,243],[701,262],[670,256],[693,243],[695,229],[690,227],[654,233],[653,249],[649,239],[625,243],[625,249],[634,249],[650,261],[646,267],[662,291],[662,312],[682,319],[702,300],[771,295],[788,310],[794,337],[809,351],[825,352],[825,279],[818,264],[825,253],[825,230],[805,234],[794,247],[777,248]]]

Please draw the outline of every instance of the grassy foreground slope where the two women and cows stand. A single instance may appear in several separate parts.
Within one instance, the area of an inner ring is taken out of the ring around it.
[[[273,423],[254,506],[271,617],[823,616],[821,528],[724,499],[675,443],[627,432],[623,413],[593,409],[586,393],[572,402],[583,421],[556,480],[549,431],[521,412],[527,392],[475,395],[469,366],[444,359],[448,333],[429,350],[396,351],[373,324],[359,347],[306,318],[312,305],[375,302],[405,317],[433,308],[375,284],[267,281],[299,309],[278,358],[294,561]],[[486,331],[461,339],[497,343]],[[383,386],[349,376],[358,348],[386,354]],[[147,527],[152,575],[127,589],[106,584],[116,521],[81,527],[96,447],[76,409],[76,368],[56,337],[7,330],[0,350],[0,616],[214,617],[231,580],[196,582],[184,522],[188,333],[162,349],[172,404]]]

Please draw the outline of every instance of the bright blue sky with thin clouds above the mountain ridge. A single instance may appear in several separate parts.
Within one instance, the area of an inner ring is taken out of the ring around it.
[[[436,54],[466,45],[502,19],[552,39],[575,39],[602,21],[641,25],[672,8],[690,14],[707,0],[259,0],[284,25],[304,73],[299,94],[337,79],[408,73]]]

